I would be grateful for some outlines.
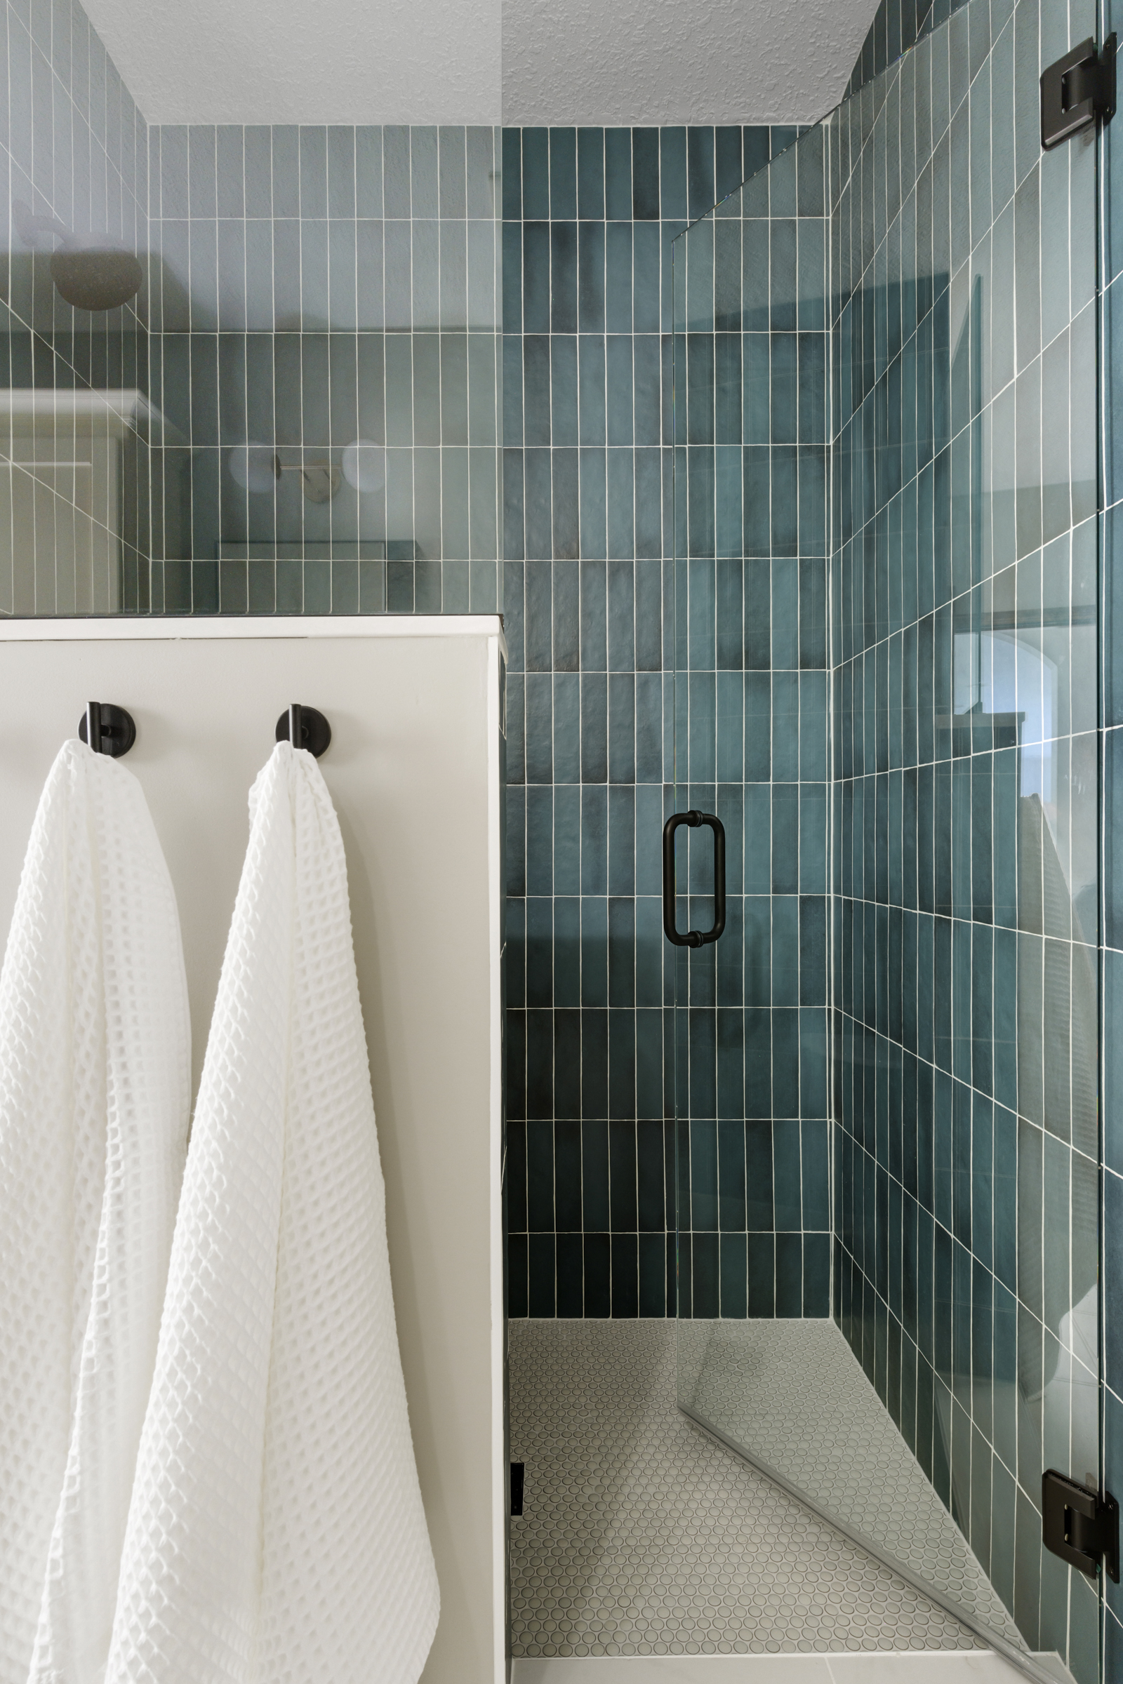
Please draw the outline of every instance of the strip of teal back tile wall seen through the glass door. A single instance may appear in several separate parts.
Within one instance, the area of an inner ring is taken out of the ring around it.
[[[673,244],[679,1314],[830,1315],[827,192],[810,130]],[[709,832],[680,832],[690,928]],[[685,908],[684,908],[685,921]]]

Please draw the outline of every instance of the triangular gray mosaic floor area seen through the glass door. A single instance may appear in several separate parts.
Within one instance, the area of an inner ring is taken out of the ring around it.
[[[833,1322],[682,1322],[679,1335],[692,1413],[1024,1647]]]

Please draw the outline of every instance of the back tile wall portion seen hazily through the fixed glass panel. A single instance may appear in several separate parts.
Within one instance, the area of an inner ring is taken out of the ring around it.
[[[153,611],[495,611],[497,131],[148,138]]]

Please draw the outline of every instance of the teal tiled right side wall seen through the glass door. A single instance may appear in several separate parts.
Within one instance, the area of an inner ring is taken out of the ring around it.
[[[1079,15],[1076,15],[1079,12]],[[1098,1468],[1091,7],[971,0],[832,130],[835,1317],[1032,1649]]]

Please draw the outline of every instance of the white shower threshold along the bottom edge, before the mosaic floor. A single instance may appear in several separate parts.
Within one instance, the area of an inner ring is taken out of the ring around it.
[[[1056,1654],[1034,1657],[1059,1684]],[[993,1649],[838,1655],[566,1655],[512,1660],[512,1684],[1014,1684]]]

